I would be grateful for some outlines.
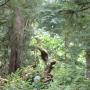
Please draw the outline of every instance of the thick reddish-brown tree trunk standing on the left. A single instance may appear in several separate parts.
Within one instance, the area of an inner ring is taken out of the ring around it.
[[[24,18],[21,14],[20,8],[16,8],[13,20],[11,35],[10,35],[10,63],[9,73],[15,72],[21,66],[22,61],[22,47],[24,38]]]

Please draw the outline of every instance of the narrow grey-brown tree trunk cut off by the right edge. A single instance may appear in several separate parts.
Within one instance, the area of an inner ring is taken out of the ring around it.
[[[86,78],[90,79],[90,49],[86,50]]]

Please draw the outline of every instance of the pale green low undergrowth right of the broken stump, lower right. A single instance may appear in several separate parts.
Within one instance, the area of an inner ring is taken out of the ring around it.
[[[90,82],[84,77],[84,69],[58,63],[54,69],[54,81],[47,90],[89,90]]]

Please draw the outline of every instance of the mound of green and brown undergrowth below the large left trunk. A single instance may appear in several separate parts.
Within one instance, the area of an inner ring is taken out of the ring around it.
[[[26,76],[25,76],[26,74]],[[3,90],[33,90],[33,89],[45,89],[47,84],[42,81],[34,82],[35,76],[41,74],[39,71],[33,70],[31,67],[24,67],[17,70],[16,73],[12,73],[7,76],[7,83],[3,85]],[[28,75],[28,80],[23,80]]]

